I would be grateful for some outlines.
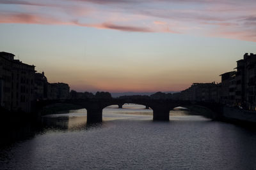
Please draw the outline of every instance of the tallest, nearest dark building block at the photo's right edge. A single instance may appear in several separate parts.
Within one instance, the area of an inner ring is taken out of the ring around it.
[[[221,74],[222,101],[230,106],[241,106],[247,110],[256,110],[256,54],[245,53],[243,59],[237,60],[237,71]],[[223,79],[224,76],[224,80]]]

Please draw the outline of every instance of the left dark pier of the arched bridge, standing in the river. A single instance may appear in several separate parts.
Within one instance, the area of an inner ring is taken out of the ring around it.
[[[87,123],[99,123],[102,122],[102,109],[90,108],[87,109]]]

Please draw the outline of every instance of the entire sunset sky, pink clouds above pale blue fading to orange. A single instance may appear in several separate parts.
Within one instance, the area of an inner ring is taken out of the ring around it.
[[[109,92],[220,82],[256,53],[255,0],[0,0],[0,51],[49,82]]]

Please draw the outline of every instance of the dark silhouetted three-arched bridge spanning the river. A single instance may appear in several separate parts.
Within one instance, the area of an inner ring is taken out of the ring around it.
[[[38,112],[45,106],[56,103],[82,106],[87,110],[87,122],[102,122],[102,110],[111,105],[118,105],[118,108],[122,108],[122,105],[125,103],[141,104],[153,110],[153,120],[161,121],[168,121],[170,119],[170,110],[173,110],[173,108],[193,105],[190,101],[175,101],[172,99],[64,99],[36,101],[34,111]],[[201,103],[199,105],[205,106],[216,113],[220,112],[218,104]],[[214,117],[216,117],[216,115],[214,115]]]

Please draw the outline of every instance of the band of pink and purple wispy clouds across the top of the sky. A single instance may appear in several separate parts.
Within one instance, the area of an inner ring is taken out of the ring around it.
[[[0,4],[1,23],[78,25],[256,41],[253,0],[2,0]],[[36,6],[36,10],[24,6]]]

